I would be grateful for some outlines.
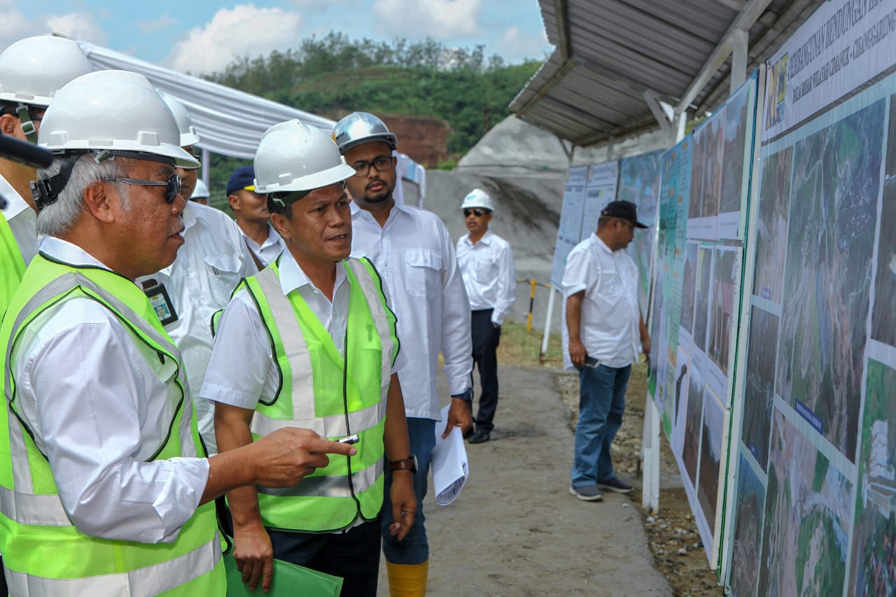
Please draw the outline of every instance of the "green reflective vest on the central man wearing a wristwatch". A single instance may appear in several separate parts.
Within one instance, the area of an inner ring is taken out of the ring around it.
[[[280,370],[280,388],[259,402],[254,439],[283,427],[310,428],[339,439],[358,434],[354,456],[331,455],[330,464],[284,489],[258,486],[265,526],[333,532],[360,516],[371,521],[383,506],[383,430],[392,364],[398,355],[395,316],[382,282],[366,259],[346,259],[349,314],[343,359],[332,336],[297,292],[283,296],[277,262],[245,286],[254,299]]]

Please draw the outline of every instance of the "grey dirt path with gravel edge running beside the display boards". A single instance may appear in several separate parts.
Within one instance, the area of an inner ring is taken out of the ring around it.
[[[445,507],[426,498],[427,594],[722,594],[668,446],[659,515],[641,510],[642,372],[630,382],[614,444],[616,470],[636,489],[605,493],[599,504],[568,494],[577,376],[502,365],[499,377],[495,431],[486,444],[467,445],[470,480],[461,496]],[[384,565],[379,594],[389,594]]]

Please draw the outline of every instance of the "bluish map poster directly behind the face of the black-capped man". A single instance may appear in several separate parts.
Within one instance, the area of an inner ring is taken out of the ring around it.
[[[657,213],[659,212],[659,184],[663,168],[663,151],[651,151],[619,163],[619,187],[616,199],[631,201],[638,208],[638,221],[650,228],[637,230],[628,253],[638,266],[638,305],[642,316],[650,307],[650,267],[657,241]]]

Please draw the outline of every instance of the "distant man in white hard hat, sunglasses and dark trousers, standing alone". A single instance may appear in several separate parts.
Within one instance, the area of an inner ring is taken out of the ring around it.
[[[470,297],[473,362],[479,369],[479,409],[470,444],[491,439],[498,406],[498,343],[501,324],[513,307],[516,276],[510,243],[488,229],[495,203],[481,188],[461,202],[463,221],[470,230],[457,239],[457,263]]]

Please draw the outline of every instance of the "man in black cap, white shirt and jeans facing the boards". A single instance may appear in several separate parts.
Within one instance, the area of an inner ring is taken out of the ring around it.
[[[610,445],[622,426],[625,387],[639,349],[650,354],[650,335],[638,310],[638,267],[623,249],[634,238],[634,203],[614,201],[600,212],[598,230],[566,257],[564,365],[579,371],[579,422],[575,429],[570,493],[599,502],[600,488],[628,493],[616,477]]]

